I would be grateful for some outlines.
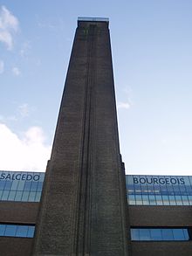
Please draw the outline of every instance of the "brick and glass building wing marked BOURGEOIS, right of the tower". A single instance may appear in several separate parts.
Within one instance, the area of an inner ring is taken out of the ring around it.
[[[192,255],[192,176],[127,176],[132,255]]]

